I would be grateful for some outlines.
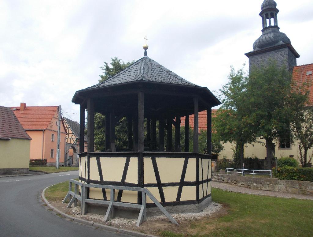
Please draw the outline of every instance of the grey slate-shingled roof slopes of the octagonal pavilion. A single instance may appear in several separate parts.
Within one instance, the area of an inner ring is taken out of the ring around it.
[[[196,84],[188,82],[151,58],[142,57],[138,61],[126,67],[123,71],[117,73],[115,76],[112,76],[104,82],[98,83],[92,87],[87,87],[83,90],[135,81],[161,82],[198,87]]]

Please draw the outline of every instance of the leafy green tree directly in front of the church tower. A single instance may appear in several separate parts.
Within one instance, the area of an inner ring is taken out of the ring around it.
[[[252,68],[245,94],[250,108],[247,123],[257,129],[257,137],[265,139],[267,166],[271,168],[273,140],[290,132],[292,114],[301,108],[305,95],[293,90],[290,72],[273,60]]]

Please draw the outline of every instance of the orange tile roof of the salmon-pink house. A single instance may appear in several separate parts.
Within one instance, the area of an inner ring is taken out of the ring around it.
[[[20,112],[20,107],[11,109],[25,130],[36,130],[48,127],[58,106],[27,106],[23,112]]]

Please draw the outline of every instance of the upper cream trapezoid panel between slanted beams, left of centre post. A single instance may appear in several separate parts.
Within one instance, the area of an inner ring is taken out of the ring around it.
[[[100,157],[103,180],[121,181],[126,157]]]

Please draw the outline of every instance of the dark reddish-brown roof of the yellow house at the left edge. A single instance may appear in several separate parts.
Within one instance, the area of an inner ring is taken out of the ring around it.
[[[10,140],[11,138],[31,139],[11,108],[0,106],[0,139]]]

